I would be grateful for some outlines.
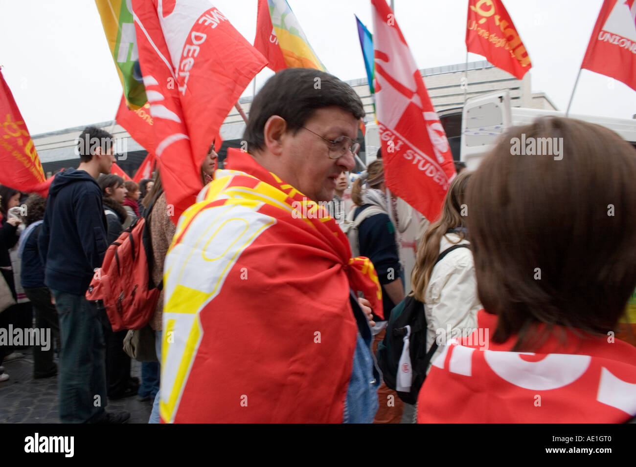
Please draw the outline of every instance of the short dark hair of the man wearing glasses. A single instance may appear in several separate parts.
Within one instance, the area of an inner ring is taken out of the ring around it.
[[[362,100],[351,86],[335,76],[312,68],[287,68],[268,79],[254,97],[243,139],[249,152],[263,149],[265,122],[272,115],[285,119],[295,134],[314,112],[340,107],[355,118],[364,117]]]

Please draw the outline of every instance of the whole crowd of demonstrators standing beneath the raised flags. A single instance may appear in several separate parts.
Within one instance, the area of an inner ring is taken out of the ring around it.
[[[127,412],[105,407],[129,396],[153,401],[149,423],[636,415],[636,339],[629,328],[616,336],[636,288],[630,144],[567,118],[511,128],[476,171],[455,166],[439,218],[422,219],[408,277],[381,155],[350,184],[364,116],[356,92],[324,72],[286,69],[250,110],[247,152],[228,149],[215,170],[210,147],[203,189],[178,227],[160,168],[124,182],[106,146],[58,173],[48,198],[0,187],[0,270],[15,302],[0,328],[33,326],[24,290],[35,326],[57,336],[34,351],[34,377],[59,377],[60,421],[124,423]],[[563,138],[562,160],[512,156],[522,134]],[[111,135],[88,127],[84,137]],[[297,201],[331,208],[299,219]],[[127,330],[113,332],[85,293],[108,246],[141,217],[163,290],[148,322],[157,362],[142,362],[140,381]],[[427,354],[417,403],[401,400],[411,384],[390,387],[404,380],[383,375],[376,358],[407,302],[425,321],[408,330]],[[0,346],[3,358],[20,355]]]

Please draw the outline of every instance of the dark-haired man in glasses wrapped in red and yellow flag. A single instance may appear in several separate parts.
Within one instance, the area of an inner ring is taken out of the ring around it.
[[[363,116],[349,85],[314,69],[280,71],[254,98],[247,152],[228,151],[166,257],[164,422],[373,421],[379,374],[356,294],[380,318],[382,295],[326,208]]]

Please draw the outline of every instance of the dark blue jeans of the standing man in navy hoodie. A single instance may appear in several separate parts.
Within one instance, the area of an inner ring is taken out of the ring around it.
[[[84,295],[51,290],[60,318],[60,421],[86,423],[104,414],[106,343],[97,307]]]

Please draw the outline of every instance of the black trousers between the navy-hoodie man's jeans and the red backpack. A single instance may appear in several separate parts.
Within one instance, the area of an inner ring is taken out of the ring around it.
[[[127,333],[127,330],[113,332],[110,323],[104,323],[106,384],[110,398],[123,397],[128,386],[132,384],[130,381],[130,357],[123,351],[123,339]]]

